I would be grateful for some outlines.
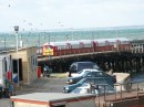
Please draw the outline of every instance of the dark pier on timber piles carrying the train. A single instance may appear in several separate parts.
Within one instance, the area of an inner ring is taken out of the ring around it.
[[[131,51],[104,51],[61,56],[38,56],[39,66],[48,64],[52,72],[68,72],[71,63],[79,61],[95,62],[104,71],[140,73],[144,69],[144,40],[132,41]]]

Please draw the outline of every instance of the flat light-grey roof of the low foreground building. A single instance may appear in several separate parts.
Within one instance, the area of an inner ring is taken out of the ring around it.
[[[66,99],[82,98],[82,97],[94,97],[93,94],[63,94],[63,93],[32,93],[25,95],[11,96],[11,99],[24,99],[24,100],[37,100],[37,101],[60,101]]]

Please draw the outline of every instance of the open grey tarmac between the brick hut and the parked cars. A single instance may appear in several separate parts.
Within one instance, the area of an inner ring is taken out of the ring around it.
[[[22,85],[16,94],[34,92],[62,93],[64,85],[66,85],[65,74],[52,74],[51,77],[40,77],[33,81],[30,85]]]

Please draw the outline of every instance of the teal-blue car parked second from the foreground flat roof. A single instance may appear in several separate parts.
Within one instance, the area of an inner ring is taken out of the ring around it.
[[[110,79],[107,79],[106,77],[85,77],[82,78],[80,82],[78,82],[76,84],[71,84],[71,85],[66,85],[63,87],[63,93],[71,93],[73,89],[75,89],[76,87],[83,85],[84,83],[91,83],[91,84],[109,84],[112,87],[114,87],[114,83]]]

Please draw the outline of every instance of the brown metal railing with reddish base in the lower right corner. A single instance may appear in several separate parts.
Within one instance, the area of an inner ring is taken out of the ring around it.
[[[95,98],[96,107],[144,107],[144,81],[115,84],[114,87],[115,93],[105,90]]]

